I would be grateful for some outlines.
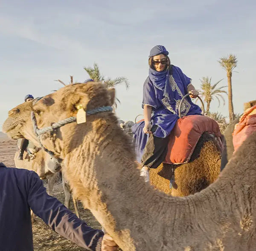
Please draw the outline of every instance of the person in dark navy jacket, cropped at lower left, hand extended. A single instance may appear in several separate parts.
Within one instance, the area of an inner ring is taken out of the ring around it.
[[[34,171],[0,162],[0,251],[32,251],[30,208],[55,232],[92,251],[116,251],[113,239],[89,227],[47,194]]]

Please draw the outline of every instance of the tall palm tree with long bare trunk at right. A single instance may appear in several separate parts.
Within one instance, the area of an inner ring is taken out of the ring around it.
[[[228,110],[229,110],[229,117],[230,122],[234,120],[234,107],[233,107],[233,101],[232,101],[232,83],[231,83],[231,77],[232,77],[232,71],[237,66],[237,58],[233,54],[229,54],[228,57],[221,57],[220,60],[218,60],[218,63],[220,63],[221,67],[224,68],[227,71],[227,86],[228,86]]]

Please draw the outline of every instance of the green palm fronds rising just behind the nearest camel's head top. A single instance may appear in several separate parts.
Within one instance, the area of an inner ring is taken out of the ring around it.
[[[116,85],[125,83],[126,88],[129,88],[129,82],[126,77],[116,77],[114,79],[111,78],[105,78],[104,75],[102,75],[99,71],[99,66],[97,63],[93,64],[93,67],[84,67],[84,70],[87,71],[90,78],[93,79],[96,82],[103,82],[109,87],[114,87]]]

